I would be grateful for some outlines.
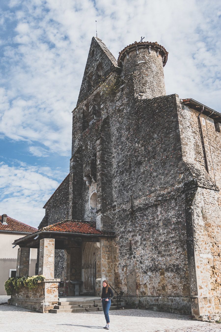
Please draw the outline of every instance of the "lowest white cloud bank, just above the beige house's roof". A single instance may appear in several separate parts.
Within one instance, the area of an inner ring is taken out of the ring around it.
[[[45,213],[42,207],[59,186],[54,178],[65,175],[49,167],[15,164],[0,163],[1,214],[37,227]]]

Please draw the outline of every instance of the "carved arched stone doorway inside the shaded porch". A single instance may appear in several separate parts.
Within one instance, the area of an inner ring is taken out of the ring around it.
[[[94,242],[82,243],[83,293],[95,294],[96,250]]]

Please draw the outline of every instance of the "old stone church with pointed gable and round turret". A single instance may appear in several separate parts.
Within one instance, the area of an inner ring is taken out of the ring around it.
[[[92,38],[70,173],[35,237],[15,243],[55,239],[52,277],[65,296],[99,295],[108,279],[132,306],[218,320],[221,114],[166,95],[167,58],[157,42],[135,41],[116,60]]]

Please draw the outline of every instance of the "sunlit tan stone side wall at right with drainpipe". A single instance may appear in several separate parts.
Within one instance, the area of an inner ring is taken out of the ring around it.
[[[219,320],[221,313],[221,136],[213,120],[202,114],[206,172],[198,126],[198,112],[180,104],[178,108],[182,153],[199,185],[192,201],[195,285],[192,301],[196,317]],[[203,121],[204,119],[204,121]],[[190,280],[190,282],[192,282]],[[195,297],[194,297],[195,296]]]

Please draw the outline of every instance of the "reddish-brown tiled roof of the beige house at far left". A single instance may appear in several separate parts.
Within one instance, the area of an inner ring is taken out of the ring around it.
[[[2,220],[2,216],[0,215],[0,232],[7,231],[7,232],[13,232],[13,233],[14,232],[33,233],[33,232],[37,231],[37,228],[24,224],[23,222],[13,219],[9,216],[7,216],[7,219],[6,219],[7,225],[3,225],[1,220]]]

